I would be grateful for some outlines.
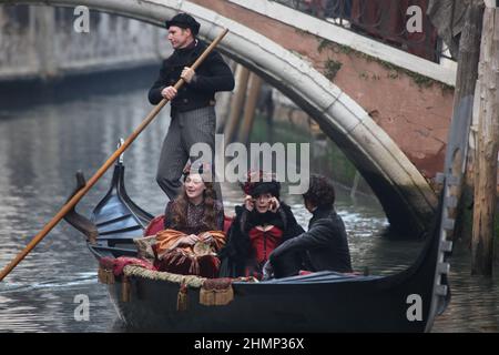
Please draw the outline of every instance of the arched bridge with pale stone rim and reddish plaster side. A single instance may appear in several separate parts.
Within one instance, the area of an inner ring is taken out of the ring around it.
[[[431,220],[437,200],[426,178],[442,166],[455,68],[273,1],[0,0],[20,3],[88,6],[160,27],[184,11],[200,21],[206,40],[228,28],[220,51],[320,125],[369,183],[395,227],[421,231]]]

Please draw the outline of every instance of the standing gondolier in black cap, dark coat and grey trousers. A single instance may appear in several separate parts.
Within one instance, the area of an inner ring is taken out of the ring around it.
[[[200,23],[187,13],[179,13],[166,21],[167,39],[173,54],[163,61],[160,78],[149,91],[149,101],[157,104],[163,98],[171,101],[169,132],[164,139],[157,166],[156,181],[170,200],[174,200],[181,186],[185,163],[191,158],[194,143],[206,143],[215,152],[215,92],[234,89],[234,75],[222,55],[213,51],[194,72],[190,67],[206,49],[196,38]],[[176,91],[173,85],[180,79],[185,85]],[[213,173],[215,172],[212,169]],[[218,190],[218,189],[217,189]],[[218,196],[220,199],[221,196]]]

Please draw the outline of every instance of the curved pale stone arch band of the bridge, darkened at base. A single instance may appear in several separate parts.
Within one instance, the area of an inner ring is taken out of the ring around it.
[[[0,4],[20,3],[88,6],[155,26],[185,11],[200,21],[200,37],[208,41],[228,28],[220,51],[279,89],[318,122],[369,183],[394,227],[422,231],[431,221],[435,193],[367,112],[306,60],[247,27],[183,0],[0,0]]]

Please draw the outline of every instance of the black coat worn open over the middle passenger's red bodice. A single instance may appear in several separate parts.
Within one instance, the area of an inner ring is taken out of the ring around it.
[[[251,214],[257,212],[249,212],[243,206],[236,206],[235,212],[236,216],[227,232],[227,244],[218,253],[222,261],[220,271],[221,277],[243,276],[248,258],[254,257],[248,235],[252,225],[248,221],[251,220]],[[281,206],[276,212],[276,217],[279,217],[283,223],[283,242],[305,232],[296,222],[291,207],[284,202],[281,202]],[[275,273],[282,277],[296,275],[299,271],[302,258],[303,256],[299,255],[299,253],[289,253],[275,265]]]

